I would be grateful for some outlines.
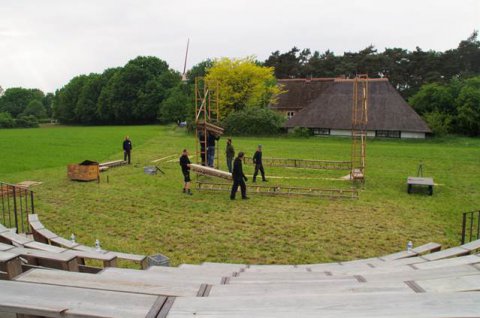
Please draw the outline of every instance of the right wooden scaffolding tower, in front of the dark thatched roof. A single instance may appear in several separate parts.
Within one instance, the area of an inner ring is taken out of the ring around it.
[[[368,75],[357,75],[353,80],[352,105],[352,170],[353,182],[365,182],[368,124]]]

